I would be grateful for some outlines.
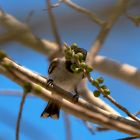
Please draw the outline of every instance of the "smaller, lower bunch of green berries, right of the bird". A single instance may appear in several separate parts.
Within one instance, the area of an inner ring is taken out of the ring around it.
[[[107,95],[110,94],[110,90],[107,88],[107,86],[106,85],[102,85],[103,82],[104,82],[104,79],[102,77],[99,77],[99,78],[97,78],[95,80],[92,80],[92,82],[91,82],[92,85],[97,87],[97,89],[98,89],[98,90],[95,90],[93,92],[95,97],[99,97],[101,92],[104,93],[104,96],[107,96]]]

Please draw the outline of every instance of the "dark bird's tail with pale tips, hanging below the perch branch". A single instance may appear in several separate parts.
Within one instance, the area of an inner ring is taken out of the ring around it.
[[[48,105],[41,114],[41,117],[59,119],[60,105],[56,101],[49,101]]]

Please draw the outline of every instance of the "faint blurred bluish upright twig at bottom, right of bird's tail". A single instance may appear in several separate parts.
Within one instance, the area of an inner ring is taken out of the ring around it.
[[[64,125],[65,125],[65,134],[66,134],[66,140],[72,140],[72,132],[71,132],[71,123],[70,123],[70,118],[68,114],[65,112],[63,113],[64,117]]]

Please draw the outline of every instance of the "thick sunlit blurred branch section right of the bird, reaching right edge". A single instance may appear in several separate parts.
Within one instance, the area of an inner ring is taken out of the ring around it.
[[[92,66],[99,72],[123,80],[126,83],[140,88],[140,70],[134,66],[121,64],[103,56],[96,56]]]

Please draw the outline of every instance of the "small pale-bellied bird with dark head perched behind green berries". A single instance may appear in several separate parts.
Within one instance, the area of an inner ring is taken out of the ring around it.
[[[87,51],[83,48],[75,48],[75,54],[82,53],[83,61],[86,61]],[[74,61],[67,60],[65,57],[55,58],[49,65],[48,68],[48,84],[55,84],[60,88],[68,91],[75,92],[73,96],[75,101],[78,101],[79,93],[77,91],[77,86],[84,78],[84,73],[74,73],[71,69]],[[53,94],[53,93],[52,93]],[[55,95],[57,96],[57,95]],[[59,119],[60,114],[60,104],[54,99],[49,100],[44,111],[41,113],[42,118],[51,117],[53,119]],[[60,97],[59,97],[60,98]]]

